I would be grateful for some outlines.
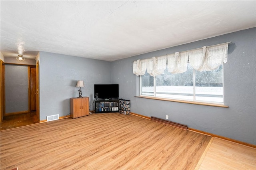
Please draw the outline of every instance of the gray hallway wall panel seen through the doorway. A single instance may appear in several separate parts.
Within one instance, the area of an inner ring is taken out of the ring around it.
[[[28,66],[5,65],[5,113],[28,111]]]

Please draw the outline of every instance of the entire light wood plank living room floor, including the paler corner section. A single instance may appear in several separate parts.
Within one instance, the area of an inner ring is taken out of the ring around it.
[[[0,136],[1,170],[225,169],[217,165],[227,162],[222,162],[223,155],[214,155],[219,150],[214,144],[221,148],[222,140],[119,113],[2,130]],[[249,162],[239,167],[256,168],[254,148],[231,146],[244,153],[240,163],[244,157]],[[214,165],[207,164],[215,158]]]

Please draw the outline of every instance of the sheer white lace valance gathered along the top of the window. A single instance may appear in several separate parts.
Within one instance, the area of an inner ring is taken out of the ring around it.
[[[151,76],[164,73],[167,68],[170,73],[184,73],[187,71],[188,59],[190,65],[198,71],[211,71],[218,68],[222,62],[228,60],[228,43],[222,43],[209,47],[192,49],[189,51],[176,52],[150,59],[142,59],[133,62],[133,73],[144,75],[146,70]]]

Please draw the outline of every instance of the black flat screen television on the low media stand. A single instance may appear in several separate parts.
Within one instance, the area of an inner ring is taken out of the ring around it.
[[[98,96],[98,97],[97,97]],[[118,99],[118,84],[98,84],[94,85],[94,99]]]

